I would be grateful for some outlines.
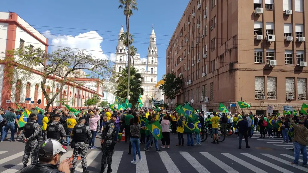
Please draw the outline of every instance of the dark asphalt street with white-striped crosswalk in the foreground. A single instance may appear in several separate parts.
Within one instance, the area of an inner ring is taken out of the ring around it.
[[[156,152],[154,145],[149,152],[144,151],[145,144],[140,144],[142,162],[136,165],[131,164],[133,156],[128,155],[129,143],[116,144],[111,166],[113,173],[308,172],[308,168],[301,166],[301,162],[297,166],[289,164],[294,159],[293,152],[289,150],[292,148],[292,143],[282,143],[282,138],[259,138],[259,135],[255,134],[253,138],[249,138],[251,148],[245,148],[243,140],[242,149],[238,149],[237,135],[227,136],[226,140],[220,144],[212,144],[212,140],[208,139],[201,142],[201,145],[187,146],[187,137],[184,134],[185,145],[180,147],[175,146],[178,141],[177,134],[170,134],[170,138],[170,148],[160,148],[162,152]],[[90,172],[100,171],[102,154],[99,140],[100,138],[95,140],[97,150],[88,150],[87,163]],[[158,144],[161,147],[161,141],[158,141]],[[23,166],[24,145],[21,140],[15,142],[8,140],[0,143],[0,172],[20,172]],[[61,160],[71,157],[72,153],[69,146],[68,152],[61,156]],[[300,156],[300,161],[302,161],[302,156]],[[75,172],[82,172],[81,160],[78,161]]]

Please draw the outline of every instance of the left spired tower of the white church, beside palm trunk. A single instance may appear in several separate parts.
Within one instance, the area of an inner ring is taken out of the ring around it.
[[[121,35],[124,33],[123,26],[121,27],[119,37],[118,37],[118,44],[116,46],[115,52],[115,73],[119,73],[122,71],[123,68],[126,66],[126,59],[127,59],[127,49],[124,45],[124,41],[121,40]]]

